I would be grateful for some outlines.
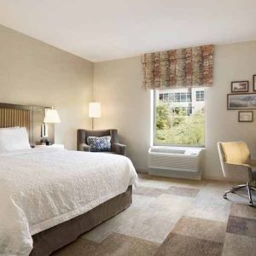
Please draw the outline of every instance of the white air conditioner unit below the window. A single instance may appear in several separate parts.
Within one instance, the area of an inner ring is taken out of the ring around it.
[[[162,177],[201,179],[203,148],[161,148],[148,150],[148,172]]]

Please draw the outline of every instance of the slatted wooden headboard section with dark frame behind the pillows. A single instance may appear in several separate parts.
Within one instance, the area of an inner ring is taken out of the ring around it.
[[[26,127],[30,143],[33,142],[32,107],[0,103],[0,128]]]

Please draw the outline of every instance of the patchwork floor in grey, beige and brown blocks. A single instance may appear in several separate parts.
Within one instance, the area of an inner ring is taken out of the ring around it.
[[[256,256],[256,207],[224,200],[233,184],[140,175],[131,207],[54,255]]]

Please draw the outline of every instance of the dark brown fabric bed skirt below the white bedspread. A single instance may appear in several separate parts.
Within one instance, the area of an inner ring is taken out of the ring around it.
[[[132,186],[98,207],[32,236],[30,256],[48,256],[131,205]]]

